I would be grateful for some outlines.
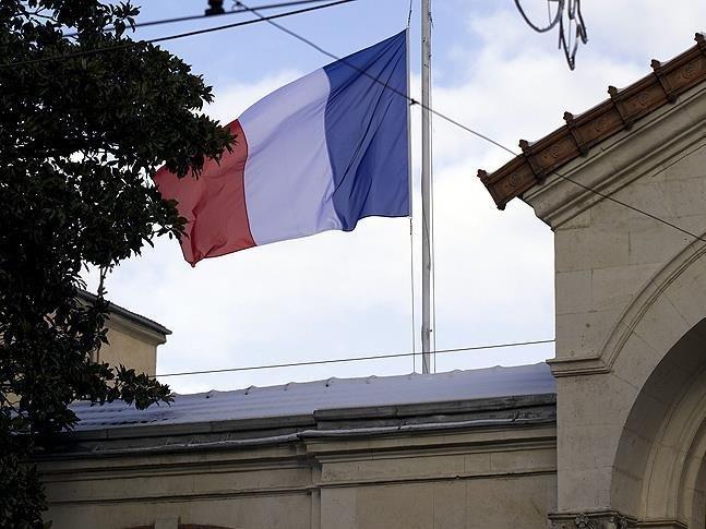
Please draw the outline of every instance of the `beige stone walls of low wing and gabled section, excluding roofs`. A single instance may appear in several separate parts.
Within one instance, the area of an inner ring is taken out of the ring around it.
[[[582,185],[554,176],[525,196],[555,231],[555,425],[440,430],[438,418],[414,433],[333,430],[279,444],[252,432],[248,443],[165,432],[121,445],[106,431],[44,458],[47,519],[108,529],[704,528],[706,88],[562,175]]]

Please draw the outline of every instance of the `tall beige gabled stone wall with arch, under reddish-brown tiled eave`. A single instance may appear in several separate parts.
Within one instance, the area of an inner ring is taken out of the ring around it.
[[[555,231],[555,527],[704,527],[706,245],[624,204],[705,238],[705,118],[697,87],[562,169],[623,204],[558,177],[525,197]]]

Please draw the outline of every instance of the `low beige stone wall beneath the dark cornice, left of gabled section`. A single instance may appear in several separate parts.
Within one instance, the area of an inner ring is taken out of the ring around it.
[[[40,464],[46,519],[53,529],[540,529],[555,508],[554,436],[538,425],[103,456],[94,445]]]

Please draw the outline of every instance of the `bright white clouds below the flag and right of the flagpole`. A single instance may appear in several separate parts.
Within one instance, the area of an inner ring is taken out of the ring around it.
[[[433,106],[515,149],[520,137],[536,140],[560,127],[564,110],[579,113],[605,99],[609,84],[647,74],[644,57],[670,57],[691,46],[692,21],[706,15],[701,2],[687,2],[689,9],[661,1],[585,2],[591,40],[570,72],[555,49],[555,33],[535,34],[505,4],[482,12],[470,11],[475,3],[458,5],[455,11],[467,10],[466,33],[436,52],[439,70],[453,70],[454,76],[436,77]],[[443,27],[444,21],[435,24]],[[300,73],[222,86],[207,111],[230,121]],[[418,92],[419,81],[412,81]],[[418,115],[415,146],[417,123]],[[520,201],[498,212],[476,178],[478,168],[494,170],[510,155],[440,118],[433,123],[438,348],[552,337],[552,232]],[[418,237],[418,201],[415,212]],[[192,269],[173,241],[160,241],[121,265],[108,286],[116,302],[173,329],[160,348],[163,373],[404,352],[419,329],[418,309],[410,322],[409,244],[407,219],[371,218],[351,233],[247,250]],[[419,251],[417,239],[417,276]],[[415,296],[419,302],[418,277]],[[525,363],[551,354],[551,347],[440,354],[436,365]],[[404,358],[169,382],[184,393],[411,369],[411,359]]]

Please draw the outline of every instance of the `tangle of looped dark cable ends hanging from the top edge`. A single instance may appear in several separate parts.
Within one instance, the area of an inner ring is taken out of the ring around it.
[[[557,12],[551,15],[551,4],[557,4]],[[566,63],[570,69],[576,67],[576,51],[578,43],[588,43],[586,24],[581,13],[581,0],[547,0],[547,11],[549,13],[549,23],[546,26],[535,24],[522,7],[520,0],[515,0],[515,5],[525,22],[537,33],[547,33],[559,26],[559,48],[564,51]]]

